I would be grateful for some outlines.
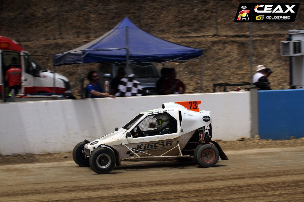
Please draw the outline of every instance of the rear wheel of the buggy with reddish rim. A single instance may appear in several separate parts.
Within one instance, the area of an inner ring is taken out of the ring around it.
[[[219,161],[219,150],[213,144],[199,144],[194,150],[194,160],[200,167],[213,167]]]

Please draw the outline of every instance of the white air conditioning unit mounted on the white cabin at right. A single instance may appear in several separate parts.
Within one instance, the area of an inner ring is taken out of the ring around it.
[[[281,41],[281,55],[304,55],[304,41]]]

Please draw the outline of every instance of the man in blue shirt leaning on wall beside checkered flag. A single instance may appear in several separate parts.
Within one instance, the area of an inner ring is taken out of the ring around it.
[[[103,93],[103,90],[98,83],[99,76],[96,71],[90,71],[88,73],[88,80],[91,81],[85,88],[85,98],[102,98],[109,97],[115,98],[114,95]]]

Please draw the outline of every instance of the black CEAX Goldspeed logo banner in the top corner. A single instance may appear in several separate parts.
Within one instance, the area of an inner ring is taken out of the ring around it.
[[[300,3],[240,3],[234,22],[295,22]]]

